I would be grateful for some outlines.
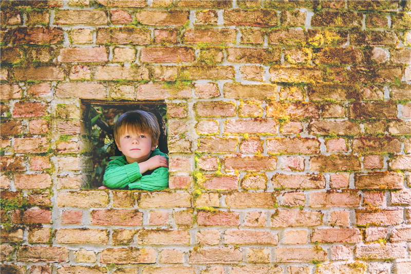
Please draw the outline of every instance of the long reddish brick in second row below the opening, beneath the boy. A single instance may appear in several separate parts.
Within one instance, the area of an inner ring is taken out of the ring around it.
[[[141,226],[143,213],[138,210],[104,209],[91,211],[92,225]]]

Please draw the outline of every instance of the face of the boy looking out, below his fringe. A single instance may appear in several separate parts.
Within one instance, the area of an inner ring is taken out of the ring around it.
[[[120,135],[119,140],[116,140],[116,144],[128,163],[146,161],[157,146],[152,143],[150,135],[140,132],[132,133],[127,130]]]

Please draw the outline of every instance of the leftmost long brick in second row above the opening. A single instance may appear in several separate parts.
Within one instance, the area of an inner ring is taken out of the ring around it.
[[[21,81],[62,81],[64,80],[64,72],[61,67],[54,66],[15,68],[14,77]]]

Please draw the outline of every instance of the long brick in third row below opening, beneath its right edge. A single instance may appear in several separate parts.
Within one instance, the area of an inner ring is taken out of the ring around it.
[[[140,230],[137,233],[140,245],[189,245],[190,233],[185,230]]]

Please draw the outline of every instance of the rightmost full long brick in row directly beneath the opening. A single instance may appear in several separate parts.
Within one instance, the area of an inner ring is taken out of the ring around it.
[[[359,207],[361,195],[350,192],[311,192],[311,207]]]

